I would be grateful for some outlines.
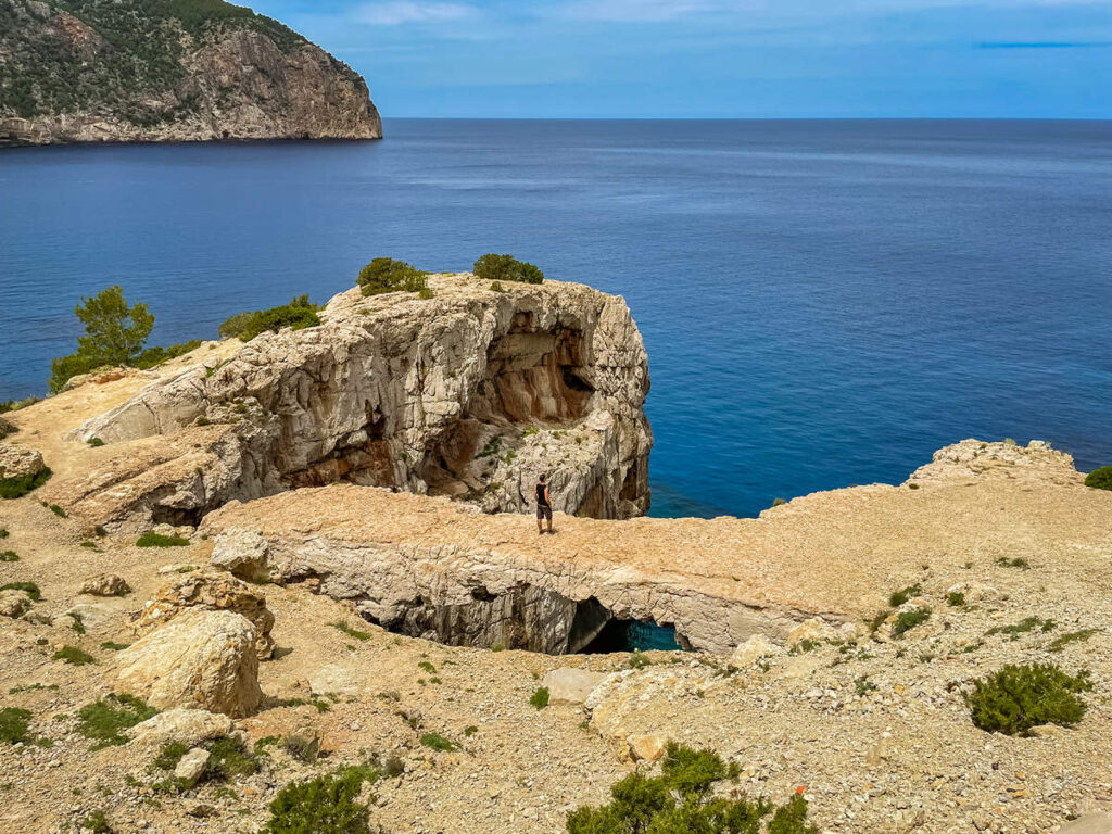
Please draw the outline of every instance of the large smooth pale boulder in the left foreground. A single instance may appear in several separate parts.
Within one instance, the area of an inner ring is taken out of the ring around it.
[[[255,626],[229,610],[187,610],[120,652],[116,688],[159,709],[242,716],[262,699]]]

